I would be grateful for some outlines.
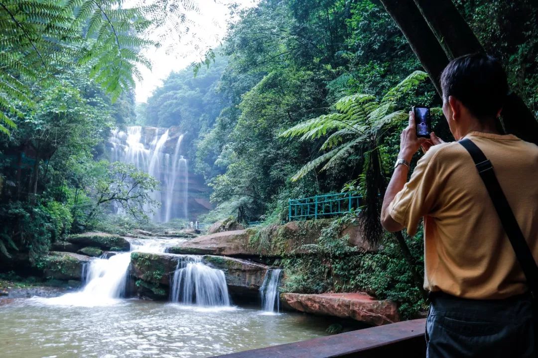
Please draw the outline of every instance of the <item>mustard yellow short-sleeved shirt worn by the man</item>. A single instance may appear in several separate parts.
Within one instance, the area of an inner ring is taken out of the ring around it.
[[[538,259],[538,147],[513,135],[471,132]],[[496,299],[527,290],[514,250],[471,156],[457,142],[432,147],[391,202],[390,214],[416,233],[424,218],[424,288]]]

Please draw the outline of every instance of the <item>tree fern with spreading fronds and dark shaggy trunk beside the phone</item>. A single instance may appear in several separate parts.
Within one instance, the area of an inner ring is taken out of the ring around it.
[[[320,171],[334,170],[353,155],[363,157],[359,187],[362,188],[365,206],[360,223],[365,238],[372,244],[377,244],[381,237],[380,197],[386,184],[379,139],[389,127],[405,121],[405,111],[394,111],[397,101],[426,78],[425,72],[415,71],[389,90],[380,101],[372,94],[345,96],[335,103],[334,113],[299,123],[281,134],[282,137],[300,136],[300,140],[326,137],[320,148],[323,153],[305,164],[292,177],[292,181],[320,167]]]

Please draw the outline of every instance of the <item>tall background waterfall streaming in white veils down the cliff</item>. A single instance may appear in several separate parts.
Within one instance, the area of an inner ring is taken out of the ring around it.
[[[175,140],[175,135],[171,135],[170,129],[164,130],[164,133],[162,130],[143,129],[140,126],[126,127],[125,132],[112,130],[109,139],[110,159],[112,162],[133,164],[160,181],[159,189],[150,193],[153,200],[161,203],[153,214],[154,221],[168,222],[173,218],[188,220],[188,165],[187,159],[180,155],[184,135],[178,135],[171,154],[166,152],[169,150],[167,142]],[[113,205],[116,213],[124,214],[117,203]]]

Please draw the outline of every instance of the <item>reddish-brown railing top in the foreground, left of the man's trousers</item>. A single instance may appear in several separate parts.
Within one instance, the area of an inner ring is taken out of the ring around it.
[[[426,319],[415,319],[363,330],[329,335],[244,352],[217,355],[222,358],[329,358],[426,356]]]

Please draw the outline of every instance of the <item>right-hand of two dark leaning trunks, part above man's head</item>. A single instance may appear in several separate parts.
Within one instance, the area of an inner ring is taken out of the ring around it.
[[[450,60],[484,52],[475,33],[451,0],[414,0],[422,17]]]

